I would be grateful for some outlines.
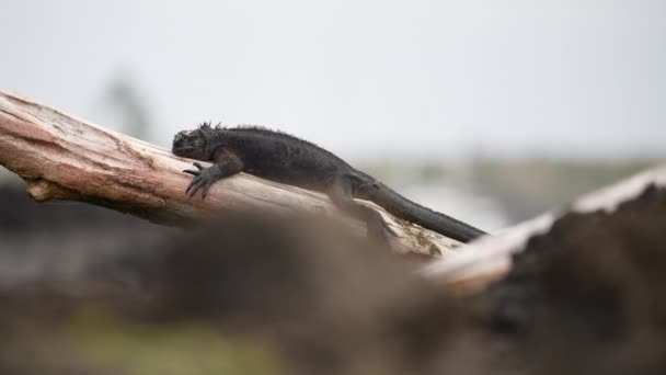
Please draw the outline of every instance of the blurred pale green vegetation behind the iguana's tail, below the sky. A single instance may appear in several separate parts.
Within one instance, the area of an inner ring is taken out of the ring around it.
[[[513,223],[560,207],[577,196],[658,164],[656,159],[567,160],[492,158],[380,160],[358,167],[401,189],[440,185],[490,197]]]

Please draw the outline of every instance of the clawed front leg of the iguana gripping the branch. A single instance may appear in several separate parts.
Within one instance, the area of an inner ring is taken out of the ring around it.
[[[218,180],[241,172],[243,170],[243,162],[236,155],[225,152],[217,158],[215,164],[208,168],[204,168],[196,161],[194,162],[194,167],[196,167],[197,170],[186,169],[183,171],[194,175],[194,179],[190,182],[190,185],[187,185],[187,190],[185,190],[185,194],[193,197],[199,189],[203,189],[202,200],[204,200],[206,198],[206,195],[208,195],[210,185]]]

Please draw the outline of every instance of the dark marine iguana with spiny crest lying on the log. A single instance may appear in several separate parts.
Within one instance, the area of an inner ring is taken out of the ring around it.
[[[213,127],[204,123],[194,130],[177,133],[172,151],[180,157],[215,162],[208,168],[195,162],[197,170],[183,171],[194,175],[185,190],[190,196],[202,190],[202,198],[206,198],[214,182],[246,172],[328,194],[337,207],[365,220],[371,238],[388,240],[387,232],[395,234],[378,212],[356,203],[355,197],[371,201],[401,219],[462,242],[485,235],[403,197],[323,148],[282,132],[259,126]]]

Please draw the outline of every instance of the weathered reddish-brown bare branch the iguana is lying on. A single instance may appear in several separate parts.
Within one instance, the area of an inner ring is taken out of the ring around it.
[[[154,223],[184,226],[225,209],[317,211],[340,215],[323,194],[241,173],[210,189],[206,201],[185,194],[192,167],[161,147],[0,91],[0,164],[27,183],[36,201],[87,202]],[[380,212],[403,251],[455,253],[460,243]],[[361,223],[348,218],[359,230]]]

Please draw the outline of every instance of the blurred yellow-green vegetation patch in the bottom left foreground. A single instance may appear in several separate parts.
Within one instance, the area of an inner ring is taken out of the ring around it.
[[[34,374],[278,374],[265,343],[202,321],[142,322],[83,305],[65,319],[15,321],[12,331],[3,363]]]

